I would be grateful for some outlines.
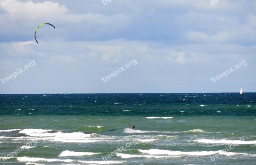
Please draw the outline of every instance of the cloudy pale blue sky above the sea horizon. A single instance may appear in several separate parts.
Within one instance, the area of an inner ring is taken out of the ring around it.
[[[256,1],[0,1],[1,94],[256,92]]]

